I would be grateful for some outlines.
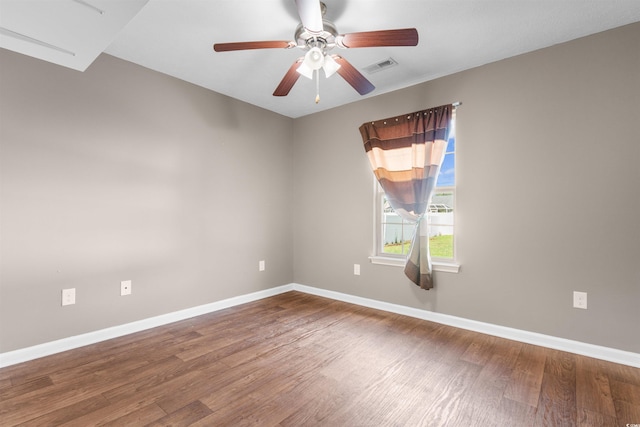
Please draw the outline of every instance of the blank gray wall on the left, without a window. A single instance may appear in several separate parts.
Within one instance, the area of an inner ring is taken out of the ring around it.
[[[108,55],[0,63],[0,352],[291,283],[293,120]]]

